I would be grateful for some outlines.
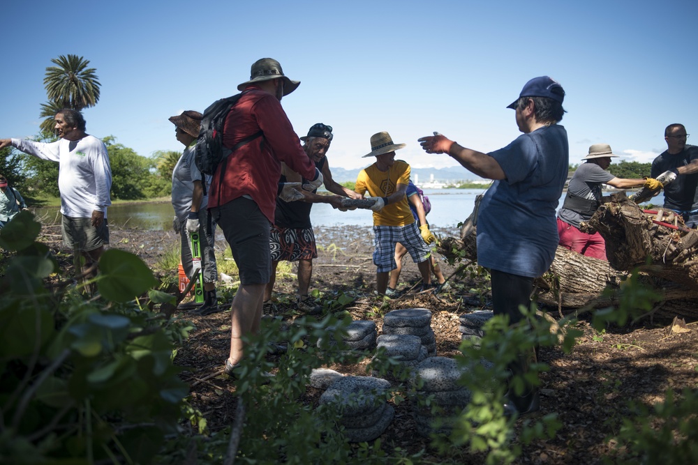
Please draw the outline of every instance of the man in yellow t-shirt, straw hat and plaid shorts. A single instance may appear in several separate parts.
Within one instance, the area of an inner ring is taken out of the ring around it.
[[[356,180],[354,190],[360,195],[366,192],[376,199],[373,210],[373,264],[376,265],[376,290],[385,294],[388,273],[396,268],[395,244],[401,243],[410,252],[410,256],[422,273],[422,288],[431,287],[429,273],[429,256],[431,250],[427,244],[434,241],[429,229],[420,232],[415,217],[407,202],[407,186],[410,182],[410,165],[402,160],[395,160],[395,151],[405,144],[394,144],[387,132],[378,132],[371,136],[371,153],[366,157],[376,157],[373,165],[362,169]]]

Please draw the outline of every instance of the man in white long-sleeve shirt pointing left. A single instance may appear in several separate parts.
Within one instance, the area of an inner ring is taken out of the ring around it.
[[[80,112],[61,109],[55,116],[56,142],[0,139],[0,148],[13,146],[42,160],[59,163],[63,241],[85,257],[84,269],[98,261],[109,243],[107,206],[112,204],[112,169],[107,147],[85,132]],[[91,274],[94,275],[96,270]]]

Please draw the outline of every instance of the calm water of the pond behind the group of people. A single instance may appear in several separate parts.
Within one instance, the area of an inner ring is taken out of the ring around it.
[[[424,194],[431,200],[429,224],[435,228],[454,229],[472,213],[475,197],[483,190],[427,189]],[[564,199],[564,194],[563,194]],[[560,206],[562,200],[560,199]],[[653,204],[663,204],[662,194],[652,199]],[[37,208],[37,215],[45,215],[50,220],[56,218],[58,208]],[[315,204],[311,220],[316,226],[366,226],[373,224],[370,210],[342,212],[329,204]],[[138,227],[152,231],[167,230],[172,227],[174,211],[170,202],[148,204],[119,204],[109,207],[109,224],[115,227]]]

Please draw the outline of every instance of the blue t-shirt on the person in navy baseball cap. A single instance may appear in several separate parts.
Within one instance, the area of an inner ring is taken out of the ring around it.
[[[556,209],[570,160],[567,131],[550,125],[489,153],[506,176],[482,197],[477,261],[485,268],[538,277],[558,246]]]

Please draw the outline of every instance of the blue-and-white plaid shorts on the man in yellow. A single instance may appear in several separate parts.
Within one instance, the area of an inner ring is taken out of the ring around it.
[[[426,245],[422,234],[419,234],[417,222],[407,226],[374,226],[373,234],[375,234],[373,243],[376,245],[376,250],[373,251],[373,264],[378,268],[378,273],[387,273],[396,268],[396,243],[405,246],[415,263],[422,263],[429,259],[431,254],[429,245]]]

